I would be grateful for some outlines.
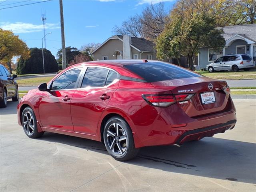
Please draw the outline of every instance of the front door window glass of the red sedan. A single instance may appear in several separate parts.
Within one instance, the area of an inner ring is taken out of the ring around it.
[[[74,68],[60,75],[52,82],[51,90],[73,89],[82,68]]]

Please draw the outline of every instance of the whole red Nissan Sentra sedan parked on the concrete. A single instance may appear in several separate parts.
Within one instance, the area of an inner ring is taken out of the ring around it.
[[[226,81],[159,61],[70,66],[23,96],[18,123],[30,138],[55,132],[101,141],[116,160],[144,146],[181,145],[233,129]]]

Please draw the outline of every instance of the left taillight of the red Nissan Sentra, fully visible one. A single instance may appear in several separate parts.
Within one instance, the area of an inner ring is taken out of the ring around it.
[[[194,94],[144,94],[142,98],[150,105],[156,107],[168,107],[176,102],[190,100]]]

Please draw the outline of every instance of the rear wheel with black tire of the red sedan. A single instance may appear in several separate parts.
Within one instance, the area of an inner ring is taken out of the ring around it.
[[[106,122],[103,134],[106,149],[114,159],[127,161],[138,154],[139,149],[134,146],[132,130],[120,116],[113,116]]]

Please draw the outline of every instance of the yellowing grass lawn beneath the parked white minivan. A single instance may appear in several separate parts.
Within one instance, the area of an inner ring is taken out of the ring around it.
[[[204,75],[206,77],[214,78],[214,79],[256,79],[256,68],[253,68],[249,71],[222,71],[222,72],[208,72],[208,71],[198,71],[197,73]]]

